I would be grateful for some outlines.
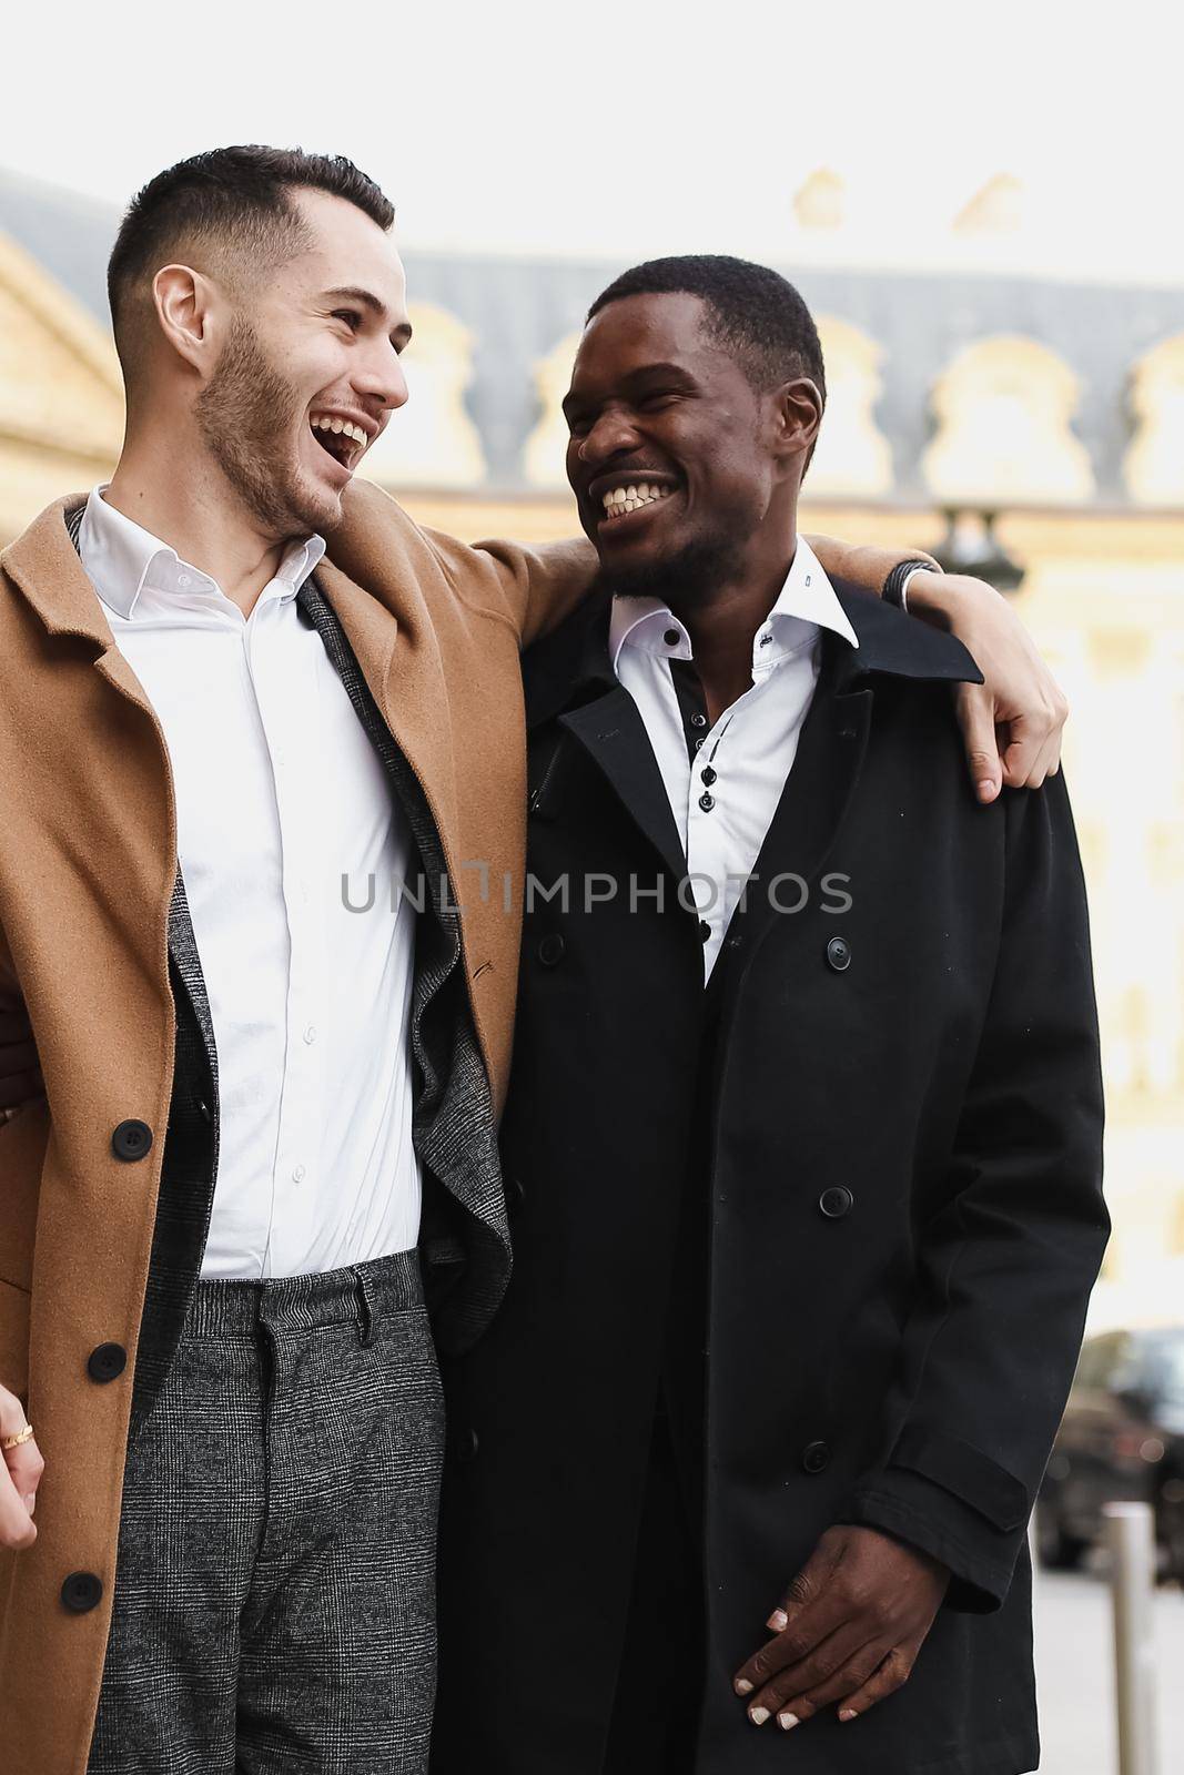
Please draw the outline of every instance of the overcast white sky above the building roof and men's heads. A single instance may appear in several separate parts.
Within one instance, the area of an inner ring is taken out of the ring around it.
[[[408,245],[781,259],[818,165],[902,257],[1010,170],[1046,245],[1184,259],[1180,12],[9,0],[0,165],[121,202],[201,147],[298,142],[366,167]]]

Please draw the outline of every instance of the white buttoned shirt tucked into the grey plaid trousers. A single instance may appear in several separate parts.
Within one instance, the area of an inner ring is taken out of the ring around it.
[[[163,728],[218,1051],[202,1276],[339,1269],[419,1239],[410,836],[296,593],[293,543],[250,616],[91,493],[85,566]],[[367,912],[367,879],[375,905]],[[343,877],[350,893],[343,891]]]

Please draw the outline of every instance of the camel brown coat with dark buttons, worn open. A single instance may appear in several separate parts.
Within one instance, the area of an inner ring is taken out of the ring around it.
[[[28,1005],[46,1081],[0,1125],[0,1383],[46,1463],[34,1546],[0,1550],[0,1757],[21,1775],[85,1771],[174,1063],[172,774],[66,531],[83,497],[0,556],[0,985]],[[348,518],[318,582],[437,820],[501,1109],[525,840],[518,651],[586,591],[593,556],[469,548],[362,485]],[[820,547],[833,572],[875,586],[898,559]],[[162,1136],[138,1164],[112,1152],[130,1118]],[[110,1342],[128,1367],[96,1386],[87,1358]],[[103,1596],[73,1613],[62,1583],[80,1571]]]

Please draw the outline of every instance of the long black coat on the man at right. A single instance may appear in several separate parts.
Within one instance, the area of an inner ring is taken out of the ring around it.
[[[861,644],[824,637],[706,1076],[698,916],[605,605],[527,657],[529,870],[570,891],[527,909],[515,1273],[446,1372],[440,1775],[600,1768],[687,1179],[710,1191],[698,1775],[1037,1763],[1024,1535],[1108,1230],[1081,866],[1063,777],[975,802],[960,644],[836,589]],[[788,872],[809,898],[777,912]],[[586,875],[616,898],[589,907]],[[836,1521],[953,1582],[904,1690],[786,1741],[731,1676]]]

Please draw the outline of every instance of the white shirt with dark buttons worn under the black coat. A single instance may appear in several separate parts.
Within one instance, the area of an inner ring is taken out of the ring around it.
[[[753,635],[753,687],[714,728],[698,715],[694,763],[671,660],[691,660],[691,635],[659,598],[616,598],[609,653],[646,724],[687,857],[703,941],[703,978],[719,957],[744,893],[818,682],[818,637],[833,628],[859,646],[818,557],[801,538],[777,602]],[[708,772],[706,781],[703,772]],[[760,884],[749,893],[762,891]],[[793,895],[786,891],[786,898]]]

